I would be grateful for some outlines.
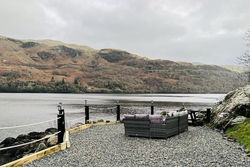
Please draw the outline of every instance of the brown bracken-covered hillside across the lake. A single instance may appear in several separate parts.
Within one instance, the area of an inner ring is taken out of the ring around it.
[[[116,49],[0,36],[0,91],[228,92],[243,74],[213,65],[150,60]]]

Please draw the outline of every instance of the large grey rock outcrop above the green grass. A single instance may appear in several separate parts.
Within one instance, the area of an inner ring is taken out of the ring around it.
[[[212,124],[227,128],[237,116],[250,117],[250,85],[229,92],[212,110]]]

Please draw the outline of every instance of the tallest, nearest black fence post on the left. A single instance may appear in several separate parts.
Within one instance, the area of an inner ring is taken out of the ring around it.
[[[57,115],[57,128],[58,128],[58,139],[57,144],[63,143],[64,134],[65,134],[65,113],[64,109],[62,109],[62,103],[58,105],[59,114]]]

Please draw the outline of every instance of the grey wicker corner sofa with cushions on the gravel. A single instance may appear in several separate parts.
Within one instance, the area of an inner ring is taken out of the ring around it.
[[[177,113],[163,120],[161,115],[124,115],[126,136],[168,138],[188,130],[188,114]]]

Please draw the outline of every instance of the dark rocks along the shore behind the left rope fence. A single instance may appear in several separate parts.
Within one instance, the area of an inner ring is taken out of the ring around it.
[[[16,138],[7,137],[0,143],[0,165],[22,158],[25,155],[32,154],[34,152],[41,151],[47,147],[51,147],[57,144],[57,136],[51,136],[56,133],[57,129],[49,128],[44,132],[30,132],[29,134],[21,134]],[[51,136],[51,137],[50,137]],[[46,138],[48,137],[48,138]],[[32,144],[14,147],[6,150],[1,150],[6,147],[29,143],[35,140],[44,140],[34,142]]]

